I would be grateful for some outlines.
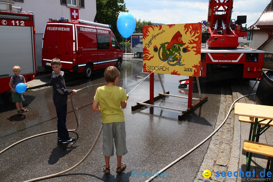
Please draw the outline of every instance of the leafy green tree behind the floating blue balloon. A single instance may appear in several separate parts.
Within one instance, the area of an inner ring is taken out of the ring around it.
[[[122,40],[116,27],[116,21],[121,12],[128,12],[124,0],[96,0],[97,13],[95,22],[111,25],[111,30],[118,42]]]

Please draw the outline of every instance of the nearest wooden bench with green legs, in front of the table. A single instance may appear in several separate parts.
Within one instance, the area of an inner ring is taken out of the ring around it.
[[[246,152],[249,152],[251,155],[252,153],[264,155],[266,158],[268,158],[265,174],[267,174],[268,171],[273,172],[273,164],[272,164],[273,145],[244,140],[243,150]],[[248,160],[248,157],[247,157],[247,165],[250,166],[250,163],[251,163],[251,160]]]

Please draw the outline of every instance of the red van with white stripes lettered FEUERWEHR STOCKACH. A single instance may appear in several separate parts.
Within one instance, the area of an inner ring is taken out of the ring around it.
[[[121,67],[123,52],[109,25],[61,18],[46,23],[42,45],[42,65],[51,69],[51,60],[59,58],[63,71],[91,77],[93,70]]]

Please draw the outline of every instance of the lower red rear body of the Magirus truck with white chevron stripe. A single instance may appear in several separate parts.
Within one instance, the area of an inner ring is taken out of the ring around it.
[[[263,59],[264,51],[257,49],[201,48],[201,77],[207,77],[203,79],[207,82],[232,78],[256,79],[261,74]]]

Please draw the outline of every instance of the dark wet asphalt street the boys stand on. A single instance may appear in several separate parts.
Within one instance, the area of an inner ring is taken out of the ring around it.
[[[142,72],[141,60],[123,61],[117,86],[129,93],[148,74]],[[126,67],[125,67],[126,65]],[[127,68],[127,69],[126,69]],[[51,74],[49,74],[51,76]],[[106,82],[103,72],[96,72],[91,79],[69,75],[66,86],[81,89],[72,97],[79,128],[70,132],[76,142],[61,144],[57,134],[51,133],[26,140],[0,154],[0,181],[25,181],[66,170],[78,163],[91,148],[99,128],[101,115],[92,111],[96,88]],[[154,96],[163,93],[157,74],[154,76]],[[187,96],[188,88],[179,89],[178,80],[185,76],[162,75],[166,91],[172,95]],[[126,145],[128,153],[122,162],[127,168],[116,173],[116,157],[110,158],[111,173],[103,173],[102,136],[86,160],[75,169],[59,177],[43,181],[146,181],[151,173],[173,162],[211,134],[217,120],[220,105],[221,84],[201,85],[201,98],[208,97],[203,106],[190,116],[179,121],[179,112],[160,108],[143,107],[131,111],[136,102],[149,99],[149,78],[145,79],[130,93],[127,108],[124,109],[126,123]],[[43,87],[23,94],[23,106],[30,110],[18,116],[15,104],[10,97],[0,99],[0,150],[26,137],[57,129],[57,116],[52,102],[52,87]],[[194,84],[194,98],[199,98],[197,85]],[[156,105],[186,110],[187,99],[166,97],[155,102]],[[68,99],[67,128],[75,129],[76,120]],[[193,181],[207,151],[208,140],[201,147],[166,170],[153,181]],[[145,176],[137,176],[145,171]],[[135,174],[135,176],[134,176]]]

